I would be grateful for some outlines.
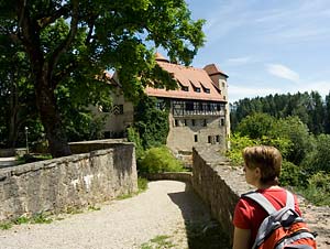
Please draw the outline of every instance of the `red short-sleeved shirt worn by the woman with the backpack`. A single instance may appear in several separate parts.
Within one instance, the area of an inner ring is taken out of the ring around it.
[[[277,210],[286,205],[286,191],[284,188],[266,188],[257,190],[257,192],[263,194]],[[301,215],[296,196],[295,209],[299,215]],[[257,234],[257,229],[264,218],[266,218],[267,216],[267,213],[257,203],[250,198],[242,197],[235,206],[233,225],[241,229],[251,230],[252,247]]]

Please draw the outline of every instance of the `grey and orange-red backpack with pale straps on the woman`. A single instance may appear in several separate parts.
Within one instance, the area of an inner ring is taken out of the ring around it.
[[[286,191],[286,206],[276,210],[261,193],[250,192],[243,195],[256,202],[268,216],[258,227],[252,249],[316,249],[316,239],[304,219],[295,210],[294,195]]]

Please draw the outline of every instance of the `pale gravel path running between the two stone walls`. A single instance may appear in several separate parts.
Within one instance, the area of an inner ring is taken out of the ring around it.
[[[185,220],[210,220],[189,185],[157,181],[132,198],[113,201],[100,210],[68,215],[52,224],[0,230],[1,249],[133,249],[161,235],[175,248],[188,248]]]

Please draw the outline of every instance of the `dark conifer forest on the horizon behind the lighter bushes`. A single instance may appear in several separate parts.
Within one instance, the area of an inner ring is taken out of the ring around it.
[[[232,131],[243,118],[256,112],[275,118],[297,116],[314,134],[330,133],[330,91],[324,99],[318,91],[244,98],[231,105]]]

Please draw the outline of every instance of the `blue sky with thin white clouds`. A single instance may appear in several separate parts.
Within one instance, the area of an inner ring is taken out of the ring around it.
[[[330,0],[187,0],[205,19],[193,66],[229,75],[230,102],[244,97],[330,90]]]

